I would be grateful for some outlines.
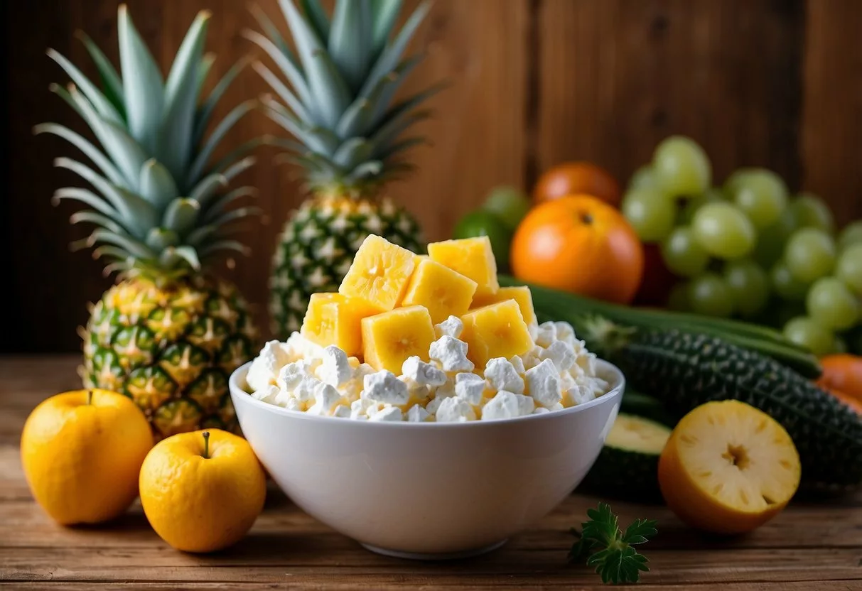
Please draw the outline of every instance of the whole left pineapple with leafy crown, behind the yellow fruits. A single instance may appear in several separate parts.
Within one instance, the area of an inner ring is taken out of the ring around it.
[[[204,137],[215,104],[242,67],[234,65],[199,103],[213,61],[203,54],[209,13],[192,23],[166,81],[125,6],[118,19],[122,78],[84,37],[103,90],[48,52],[73,81],[52,90],[87,122],[102,149],[56,123],[35,128],[68,140],[96,166],[57,159],[96,192],[60,189],[55,199],[88,207],[72,215],[72,223],[96,226],[82,246],[98,245],[93,254],[109,261],[105,271],[120,273],[82,333],[84,386],[130,396],[156,439],[201,427],[235,429],[228,376],[252,357],[255,333],[237,290],[203,269],[213,255],[245,250],[229,234],[232,222],[253,208],[228,207],[249,189],[224,188],[252,165],[241,152],[254,142],[215,166],[208,161],[253,103],[237,106]]]

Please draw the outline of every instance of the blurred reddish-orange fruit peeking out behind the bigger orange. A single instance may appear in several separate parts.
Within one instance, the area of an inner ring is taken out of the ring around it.
[[[615,207],[622,201],[614,176],[591,162],[564,162],[547,169],[533,189],[533,201],[543,203],[578,194],[598,197]]]

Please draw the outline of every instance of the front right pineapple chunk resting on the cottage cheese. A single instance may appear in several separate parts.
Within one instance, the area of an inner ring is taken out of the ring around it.
[[[464,332],[460,339],[467,344],[467,358],[477,368],[484,368],[489,359],[523,355],[534,347],[515,300],[477,308],[461,316],[461,321]]]

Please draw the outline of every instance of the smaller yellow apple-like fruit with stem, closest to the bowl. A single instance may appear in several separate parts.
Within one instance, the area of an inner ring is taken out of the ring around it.
[[[141,466],[141,505],[177,550],[211,552],[246,535],[264,506],[266,479],[252,446],[220,429],[159,441]]]

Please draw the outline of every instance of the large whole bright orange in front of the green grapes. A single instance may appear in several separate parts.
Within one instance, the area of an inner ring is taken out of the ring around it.
[[[528,283],[629,303],[640,285],[644,252],[615,208],[589,195],[533,208],[515,232],[511,266]]]

